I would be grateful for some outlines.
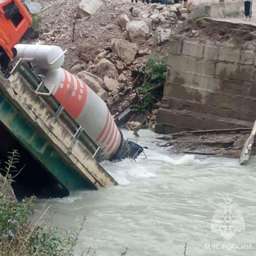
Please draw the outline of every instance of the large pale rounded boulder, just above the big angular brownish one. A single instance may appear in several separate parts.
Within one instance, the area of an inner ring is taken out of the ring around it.
[[[135,44],[144,44],[150,36],[148,24],[143,20],[128,22],[126,30],[130,41]]]

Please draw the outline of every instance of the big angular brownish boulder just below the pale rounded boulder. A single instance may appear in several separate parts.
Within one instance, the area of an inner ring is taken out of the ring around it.
[[[132,44],[123,39],[113,39],[111,42],[111,48],[112,51],[116,53],[127,65],[132,64],[135,55],[139,51],[136,44]]]

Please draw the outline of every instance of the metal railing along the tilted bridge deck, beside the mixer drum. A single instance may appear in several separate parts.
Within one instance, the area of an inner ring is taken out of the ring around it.
[[[63,124],[68,127],[68,130],[74,136],[74,141],[79,140],[97,159],[101,154],[101,149],[91,139],[91,137],[84,131],[84,129],[71,117],[64,107],[49,94],[48,89],[44,86],[43,82],[37,77],[34,72],[28,67],[26,62],[20,59],[11,71],[11,74],[18,72],[30,85],[33,91],[41,97],[46,103],[48,108],[54,113]]]

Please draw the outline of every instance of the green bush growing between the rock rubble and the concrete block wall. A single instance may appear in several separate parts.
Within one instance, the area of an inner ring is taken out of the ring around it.
[[[144,94],[144,97],[139,103],[131,106],[135,112],[146,113],[156,102],[157,95],[155,94],[155,91],[164,85],[166,70],[166,61],[148,60],[145,69],[139,74],[144,77],[144,82],[137,89],[137,92]]]

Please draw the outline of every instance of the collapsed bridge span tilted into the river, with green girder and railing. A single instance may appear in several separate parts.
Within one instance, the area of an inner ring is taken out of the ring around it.
[[[35,93],[46,89],[35,87],[36,76],[26,66],[18,70],[8,80],[0,76],[1,123],[68,190],[116,185],[86,132],[56,99]]]

